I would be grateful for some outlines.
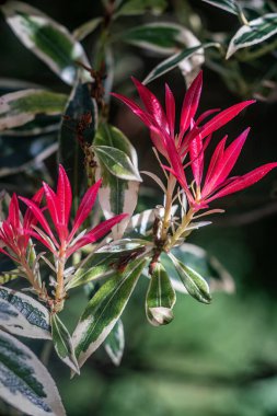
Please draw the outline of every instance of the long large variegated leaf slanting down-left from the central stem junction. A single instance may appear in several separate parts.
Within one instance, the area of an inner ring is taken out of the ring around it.
[[[79,366],[105,340],[122,315],[147,259],[130,263],[124,273],[109,278],[88,303],[73,333]]]

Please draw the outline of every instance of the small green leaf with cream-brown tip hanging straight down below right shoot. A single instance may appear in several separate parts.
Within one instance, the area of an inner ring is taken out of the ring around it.
[[[176,301],[176,293],[170,277],[161,263],[157,263],[150,277],[146,298],[147,319],[153,326],[169,324],[174,315],[172,309]]]

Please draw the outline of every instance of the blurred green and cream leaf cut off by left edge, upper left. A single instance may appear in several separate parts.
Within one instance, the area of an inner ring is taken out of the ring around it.
[[[0,97],[0,130],[23,126],[37,115],[56,116],[64,112],[65,94],[46,90],[23,90]]]

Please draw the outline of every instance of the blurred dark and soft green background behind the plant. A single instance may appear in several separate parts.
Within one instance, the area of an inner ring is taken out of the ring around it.
[[[28,3],[69,30],[102,13],[100,0],[30,0]],[[185,5],[189,5],[208,30],[238,28],[234,16],[200,0],[183,3],[184,13],[187,10]],[[124,30],[145,19],[178,20],[182,23],[181,5],[181,0],[172,0],[162,16],[126,18],[117,24]],[[85,41],[92,58],[95,36]],[[7,78],[69,92],[43,62],[20,44],[2,16],[0,46],[2,93],[11,91],[13,85],[5,82]],[[115,55],[116,91],[132,94],[129,76],[143,79],[158,61],[157,57],[140,49],[118,47]],[[151,84],[161,100],[164,81],[169,82],[181,105],[185,93],[183,77],[176,70]],[[204,66],[200,109],[224,108],[240,100],[239,94],[231,92],[217,73]],[[258,102],[216,136],[215,142],[226,131],[234,138],[243,128],[252,126],[235,172],[244,173],[277,160],[276,114],[274,101]],[[115,102],[112,120],[138,150],[140,169],[155,166],[148,131],[141,123]],[[39,142],[34,140],[0,137],[0,173],[3,167],[27,162],[45,142],[56,138],[49,136]],[[55,163],[54,155],[46,161],[45,169],[49,174],[55,171]],[[32,167],[20,174],[3,175],[0,180],[1,188],[27,194],[39,178]],[[277,173],[270,173],[254,188],[219,203],[227,213],[212,218],[213,224],[196,231],[189,242],[204,247],[222,263],[235,281],[235,292],[216,292],[210,305],[178,294],[174,321],[169,326],[155,328],[145,316],[147,280],[141,279],[123,316],[126,350],[119,368],[115,368],[104,349],[100,349],[85,363],[81,375],[69,380],[68,369],[50,354],[48,368],[57,381],[69,416],[277,415]],[[139,209],[149,208],[150,204],[161,204],[161,195],[153,183],[146,180]],[[69,327],[74,327],[82,309],[83,297],[77,292],[69,300],[69,313],[64,316]],[[41,349],[38,343],[38,354]],[[7,412],[10,411],[3,409],[2,415]]]

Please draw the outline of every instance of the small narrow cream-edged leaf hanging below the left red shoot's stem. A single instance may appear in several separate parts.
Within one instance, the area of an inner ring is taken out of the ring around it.
[[[57,314],[51,315],[51,336],[59,358],[78,374],[79,366],[74,355],[71,336]]]

